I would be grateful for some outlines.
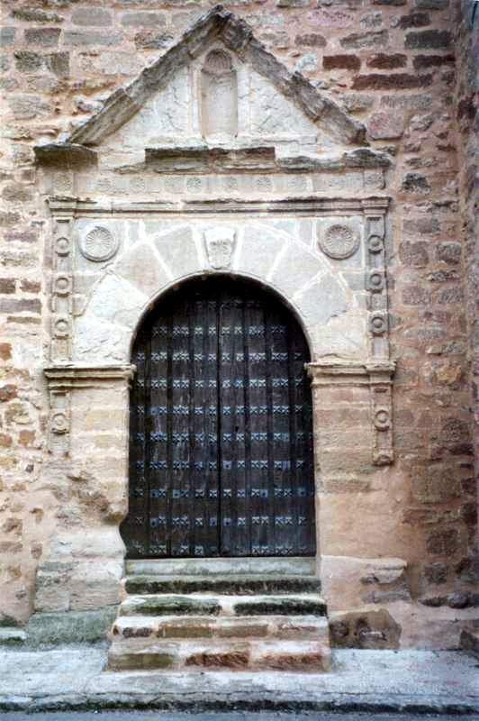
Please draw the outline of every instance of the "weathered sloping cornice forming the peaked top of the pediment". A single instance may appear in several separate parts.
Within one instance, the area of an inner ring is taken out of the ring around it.
[[[221,47],[218,44],[221,43]],[[214,44],[214,47],[212,45]],[[303,114],[335,141],[365,145],[366,128],[351,118],[299,72],[288,68],[258,41],[248,23],[216,5],[203,14],[182,37],[155,62],[144,68],[127,87],[120,87],[86,123],[74,130],[67,142],[97,145],[136,114],[150,96],[165,87],[180,68],[206,54],[203,70],[212,75],[232,71],[231,53],[267,79],[276,91],[299,107]]]

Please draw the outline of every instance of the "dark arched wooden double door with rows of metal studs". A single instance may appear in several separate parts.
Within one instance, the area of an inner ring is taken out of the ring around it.
[[[133,350],[129,558],[313,555],[303,331],[256,284],[186,283]]]

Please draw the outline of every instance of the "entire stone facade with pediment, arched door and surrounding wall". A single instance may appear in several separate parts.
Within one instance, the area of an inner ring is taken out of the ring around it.
[[[321,582],[332,645],[457,647],[479,605],[470,8],[4,15],[2,625],[102,639],[135,569],[216,564]]]

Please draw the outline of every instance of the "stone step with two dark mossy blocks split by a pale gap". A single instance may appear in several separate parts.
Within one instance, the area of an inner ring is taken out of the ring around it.
[[[151,594],[129,596],[122,601],[119,609],[119,616],[326,616],[326,613],[326,604],[317,594]]]

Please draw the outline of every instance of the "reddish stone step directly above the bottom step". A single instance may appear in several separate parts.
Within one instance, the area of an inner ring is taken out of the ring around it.
[[[145,647],[158,638],[278,638],[330,642],[324,616],[119,616],[113,624],[115,643],[143,639]]]

